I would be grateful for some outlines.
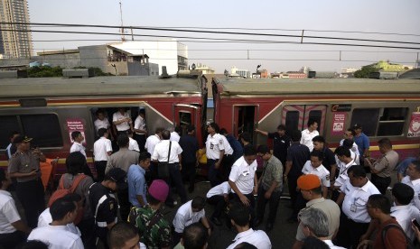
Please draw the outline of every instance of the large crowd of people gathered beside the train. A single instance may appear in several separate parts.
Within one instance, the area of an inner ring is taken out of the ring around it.
[[[121,108],[113,115],[117,134],[112,134],[104,113],[97,115],[96,177],[83,135],[73,132],[67,172],[48,207],[40,180],[45,156],[31,148],[31,138],[11,134],[8,170],[0,171],[0,248],[198,249],[207,248],[214,226],[228,226],[238,235],[227,248],[268,249],[266,232],[275,229],[285,185],[293,209],[287,222],[298,223],[293,248],[406,248],[420,239],[414,225],[420,222],[420,157],[397,164],[398,153],[382,138],[382,155],[371,158],[360,124],[348,129],[332,152],[315,120],[290,137],[283,124],[273,133],[256,129],[272,141],[258,146],[252,134],[237,139],[209,123],[203,151],[210,189],[188,199],[184,183],[194,191],[200,158],[193,126],[185,127],[186,134],[156,128],[147,136],[145,113],[133,124]],[[396,170],[400,182],[391,186]],[[11,185],[24,219],[7,191]],[[177,207],[178,199],[181,205],[169,221],[162,208]],[[213,206],[210,216],[206,203]]]

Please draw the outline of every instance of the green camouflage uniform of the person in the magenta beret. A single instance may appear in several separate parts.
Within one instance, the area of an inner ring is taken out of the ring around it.
[[[138,228],[140,241],[147,245],[147,248],[171,245],[171,226],[159,210],[154,211],[149,205],[144,208],[131,208],[128,222]]]

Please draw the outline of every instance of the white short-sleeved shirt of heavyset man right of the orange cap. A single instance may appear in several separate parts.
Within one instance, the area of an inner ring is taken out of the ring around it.
[[[341,192],[345,194],[342,202],[342,212],[354,222],[369,223],[370,217],[366,205],[369,196],[380,194],[377,187],[370,180],[361,188],[353,187],[349,179],[341,186]]]

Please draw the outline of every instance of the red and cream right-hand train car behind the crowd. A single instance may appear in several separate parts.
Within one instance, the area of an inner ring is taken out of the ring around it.
[[[347,128],[361,124],[373,156],[378,156],[377,142],[383,137],[392,141],[401,159],[419,153],[419,79],[213,78],[212,92],[215,122],[236,136],[253,134],[255,128],[275,132],[278,124],[285,124],[290,134],[314,118],[331,148]],[[267,143],[266,136],[256,133],[253,140]]]

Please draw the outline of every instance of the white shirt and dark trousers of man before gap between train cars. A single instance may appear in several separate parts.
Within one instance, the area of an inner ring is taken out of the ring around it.
[[[209,168],[208,177],[211,187],[219,184],[219,169],[215,168],[215,164],[220,159],[220,151],[224,151],[224,143],[220,134],[209,134],[206,141],[207,166]]]

